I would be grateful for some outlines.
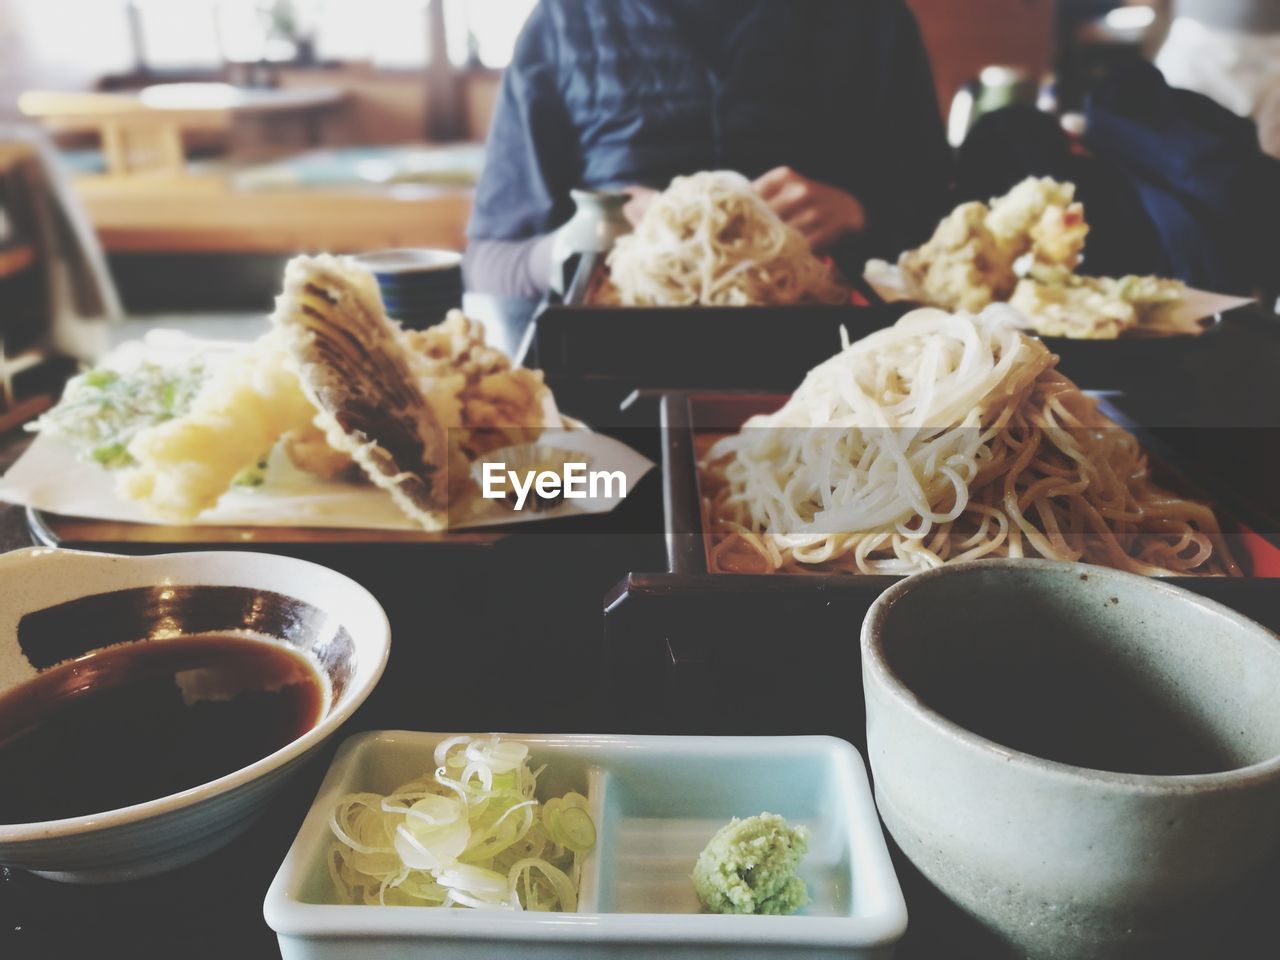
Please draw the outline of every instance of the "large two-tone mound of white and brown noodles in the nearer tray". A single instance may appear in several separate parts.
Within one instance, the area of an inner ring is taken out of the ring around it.
[[[717,442],[700,465],[712,567],[1047,557],[1239,575],[1212,509],[1157,486],[1137,438],[1012,323],[916,310]]]

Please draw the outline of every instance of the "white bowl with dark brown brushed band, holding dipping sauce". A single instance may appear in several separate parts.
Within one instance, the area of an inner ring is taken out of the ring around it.
[[[168,796],[145,796],[143,791],[133,803],[110,809],[106,797],[129,795],[123,788],[128,785],[110,782],[110,772],[100,772],[76,783],[84,792],[77,803],[90,813],[0,823],[0,864],[50,879],[136,879],[196,860],[233,840],[369,696],[390,649],[387,616],[367,590],[332,570],[289,557],[230,550],[114,557],[38,548],[0,557],[0,696],[32,689],[27,685],[51,671],[67,671],[73,662],[83,667],[87,690],[95,676],[101,677],[99,663],[145,660],[143,645],[173,644],[170,649],[178,652],[202,637],[274,645],[279,654],[310,663],[323,686],[314,722],[266,755],[251,754],[244,765],[232,763],[229,772],[207,782]],[[238,695],[221,682],[225,671],[218,666],[173,675],[182,699]],[[59,690],[79,695],[58,680]],[[28,733],[19,730],[14,736]],[[180,751],[184,742],[179,739],[172,749]],[[216,741],[204,744],[205,751],[218,746]],[[58,759],[50,756],[50,763]],[[178,759],[188,758],[179,753]],[[189,759],[200,769],[197,762],[209,758]],[[134,769],[150,782],[151,772]],[[0,790],[5,788],[4,773]]]

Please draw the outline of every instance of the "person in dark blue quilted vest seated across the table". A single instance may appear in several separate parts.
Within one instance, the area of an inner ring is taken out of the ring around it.
[[[847,275],[928,238],[950,151],[902,0],[540,0],[502,81],[470,289],[539,296],[570,191],[732,169]]]

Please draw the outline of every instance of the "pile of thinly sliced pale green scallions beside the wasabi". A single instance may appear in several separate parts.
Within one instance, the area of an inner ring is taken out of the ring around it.
[[[529,748],[456,736],[435,771],[392,794],[348,794],[329,815],[329,874],[349,904],[577,909],[595,846],[586,797],[539,803]]]

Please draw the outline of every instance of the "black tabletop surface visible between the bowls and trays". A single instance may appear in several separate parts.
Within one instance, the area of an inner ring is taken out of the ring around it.
[[[1276,320],[1260,314],[1253,324],[1254,339],[1213,342],[1208,360],[1181,358],[1144,371],[1148,388],[1128,397],[1128,408],[1157,426],[1207,436],[1233,425],[1268,430],[1280,424]],[[516,333],[512,326],[504,339]],[[0,470],[26,443],[22,434],[0,438]],[[628,571],[664,568],[660,522],[653,520],[660,490],[654,475],[645,484],[635,492],[639,513],[612,527],[588,524],[471,550],[415,547],[316,557],[374,591],[394,636],[381,684],[344,732],[611,732],[593,701],[602,598]],[[0,550],[29,544],[24,512],[0,504]],[[483,698],[465,682],[476,675],[485,677]],[[428,676],[460,681],[426,684]],[[0,957],[278,956],[262,897],[335,746],[291,781],[248,833],[178,872],[77,887],[0,868]],[[909,863],[896,861],[911,915],[899,957],[1001,955]],[[1267,955],[1275,954],[1257,954]]]

